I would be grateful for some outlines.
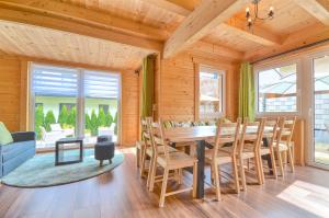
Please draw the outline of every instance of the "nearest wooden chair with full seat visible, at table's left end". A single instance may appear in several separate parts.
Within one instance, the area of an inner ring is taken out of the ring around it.
[[[196,179],[197,179],[197,159],[191,157],[184,152],[175,151],[170,152],[169,141],[166,140],[163,124],[152,123],[151,136],[154,142],[154,158],[151,165],[151,185],[156,180],[157,165],[163,169],[163,179],[161,186],[161,194],[159,200],[159,207],[163,207],[164,198],[170,195],[179,194],[182,192],[193,191],[193,197],[196,195]],[[163,148],[163,153],[159,152],[159,148]],[[167,183],[169,180],[169,171],[181,170],[184,168],[193,168],[193,184],[192,187],[178,190],[174,192],[167,192]]]

